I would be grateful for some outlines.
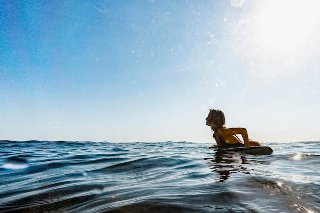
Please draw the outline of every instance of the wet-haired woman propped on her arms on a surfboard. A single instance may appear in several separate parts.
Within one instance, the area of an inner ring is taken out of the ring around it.
[[[219,109],[210,109],[207,119],[207,125],[214,131],[213,137],[217,141],[218,147],[260,147],[260,143],[255,140],[249,140],[245,128],[226,128],[224,113]],[[244,141],[240,140],[236,134],[241,134]],[[212,146],[210,148],[215,148]]]

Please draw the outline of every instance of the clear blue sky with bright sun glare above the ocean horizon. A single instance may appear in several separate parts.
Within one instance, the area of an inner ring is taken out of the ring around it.
[[[9,1],[0,139],[320,140],[320,2]]]

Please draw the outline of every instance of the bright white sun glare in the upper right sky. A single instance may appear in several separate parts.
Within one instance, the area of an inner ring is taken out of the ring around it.
[[[308,37],[320,20],[320,1],[268,1],[259,14],[259,37],[276,51],[291,51],[310,42]]]

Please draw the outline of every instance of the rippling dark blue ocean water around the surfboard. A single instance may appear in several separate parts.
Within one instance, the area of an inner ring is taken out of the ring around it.
[[[0,212],[320,212],[320,141],[0,141]]]

